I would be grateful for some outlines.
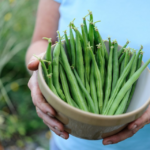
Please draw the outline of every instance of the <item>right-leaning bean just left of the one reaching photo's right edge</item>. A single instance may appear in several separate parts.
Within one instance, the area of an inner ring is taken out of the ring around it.
[[[109,99],[109,101],[108,101],[108,103],[107,103],[107,106],[106,106],[106,108],[105,108],[105,110],[104,110],[104,112],[103,112],[104,115],[107,115],[107,114],[108,114],[108,111],[109,111],[111,105],[113,104],[114,99],[115,99],[115,97],[116,97],[118,91],[120,90],[120,87],[121,87],[121,85],[122,85],[124,79],[126,78],[126,76],[128,75],[128,73],[129,73],[129,71],[130,71],[130,69],[131,69],[131,66],[132,66],[132,63],[133,63],[133,61],[134,61],[135,56],[136,56],[136,53],[134,52],[134,54],[133,54],[133,56],[132,56],[130,62],[128,63],[128,65],[127,65],[126,68],[124,69],[122,75],[120,76],[119,80],[117,81],[116,86],[115,86],[115,88],[114,88],[114,91],[113,91],[113,93],[112,93],[112,95],[111,95],[111,97],[110,97],[110,99]]]

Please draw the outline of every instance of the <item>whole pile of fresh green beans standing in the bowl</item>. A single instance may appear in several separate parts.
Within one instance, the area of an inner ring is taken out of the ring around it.
[[[150,63],[149,59],[142,65],[143,46],[136,52],[126,48],[127,41],[118,50],[117,41],[109,37],[107,51],[95,26],[99,21],[93,22],[91,11],[83,17],[81,32],[74,20],[69,23],[69,36],[67,30],[64,37],[57,31],[53,51],[51,38],[44,38],[48,40],[47,51],[43,60],[38,59],[45,82],[54,94],[77,109],[102,115],[125,113],[136,82]]]

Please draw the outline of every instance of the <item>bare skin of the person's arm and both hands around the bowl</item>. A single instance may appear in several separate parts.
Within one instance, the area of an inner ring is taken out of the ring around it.
[[[64,131],[63,124],[55,119],[56,111],[46,102],[39,89],[36,71],[38,69],[39,61],[33,56],[33,54],[36,54],[38,57],[42,57],[44,55],[43,52],[47,49],[48,43],[45,40],[42,40],[42,37],[51,37],[53,43],[56,40],[56,31],[59,20],[58,8],[59,4],[53,0],[40,0],[32,42],[26,54],[26,65],[28,70],[33,72],[28,82],[28,87],[31,90],[32,101],[36,107],[38,116],[57,135],[64,139],[68,139],[69,134]],[[131,122],[124,130],[105,138],[103,144],[115,144],[132,137],[148,123],[150,123],[150,106],[139,119]]]

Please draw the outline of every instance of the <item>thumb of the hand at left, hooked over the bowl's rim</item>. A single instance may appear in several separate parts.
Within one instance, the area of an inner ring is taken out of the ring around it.
[[[42,58],[44,54],[45,53],[41,53],[40,55],[37,55],[37,57]],[[39,65],[39,60],[36,57],[32,56],[27,67],[29,70],[35,71],[38,69],[38,65]]]

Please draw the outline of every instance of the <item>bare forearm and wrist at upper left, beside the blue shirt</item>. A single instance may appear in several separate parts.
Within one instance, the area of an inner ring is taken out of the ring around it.
[[[57,40],[59,5],[54,0],[39,1],[35,29],[26,53],[26,65],[34,54],[38,55],[46,51],[48,42],[42,40],[43,37],[52,38],[52,43]]]

